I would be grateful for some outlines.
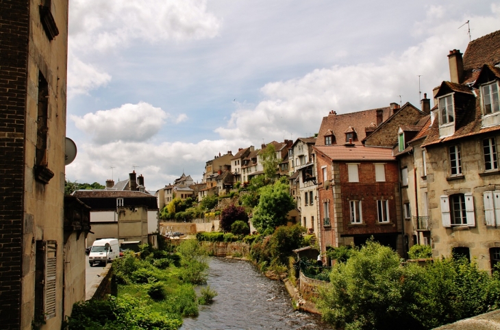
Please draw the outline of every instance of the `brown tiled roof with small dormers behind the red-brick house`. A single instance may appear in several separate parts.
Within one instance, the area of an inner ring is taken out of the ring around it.
[[[366,138],[364,131],[365,127],[369,127],[372,123],[377,123],[377,110],[382,110],[383,120],[387,120],[391,116],[390,107],[379,107],[371,110],[364,110],[359,112],[351,112],[349,114],[335,114],[330,112],[328,116],[323,117],[321,127],[318,131],[318,138],[316,139],[316,147],[324,146],[324,136],[331,135],[327,133],[331,129],[336,137],[332,144],[345,143],[345,131],[351,127],[356,132],[356,137],[353,140],[354,144],[361,145],[362,140]]]

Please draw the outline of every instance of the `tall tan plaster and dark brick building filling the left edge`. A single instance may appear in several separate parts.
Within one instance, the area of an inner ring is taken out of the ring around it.
[[[2,329],[60,329],[85,299],[88,207],[64,199],[67,31],[68,1],[1,1]]]

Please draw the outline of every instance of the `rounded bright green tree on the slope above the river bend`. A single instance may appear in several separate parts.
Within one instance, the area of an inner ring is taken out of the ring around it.
[[[253,226],[261,233],[267,228],[275,229],[286,225],[286,216],[295,207],[295,201],[289,194],[290,188],[282,181],[260,189],[258,205],[253,209]]]

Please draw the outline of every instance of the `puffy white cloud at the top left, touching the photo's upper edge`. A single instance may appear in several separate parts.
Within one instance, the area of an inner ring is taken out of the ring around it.
[[[216,36],[221,21],[206,0],[75,0],[70,6],[70,46],[106,51],[132,40],[197,40]]]

